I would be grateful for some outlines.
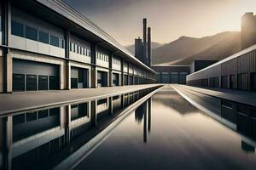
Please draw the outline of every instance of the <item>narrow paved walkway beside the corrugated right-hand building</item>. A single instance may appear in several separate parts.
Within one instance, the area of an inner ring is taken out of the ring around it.
[[[186,85],[172,85],[173,88],[179,90],[190,90],[201,94],[207,94],[219,99],[228,99],[245,105],[256,106],[256,93],[241,91],[241,90],[231,90],[231,89],[221,89],[221,88],[196,88]]]

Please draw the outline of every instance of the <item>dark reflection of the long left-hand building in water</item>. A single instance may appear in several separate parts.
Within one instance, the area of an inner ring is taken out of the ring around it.
[[[151,90],[127,94],[127,105]],[[62,167],[70,166],[78,153],[90,150],[86,144],[101,132],[98,129],[119,116],[116,113],[123,111],[124,102],[125,95],[120,94],[0,118],[0,169],[51,169],[59,161]]]

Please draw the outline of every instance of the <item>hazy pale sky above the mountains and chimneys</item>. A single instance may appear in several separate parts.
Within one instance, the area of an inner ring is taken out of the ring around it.
[[[142,37],[144,17],[154,42],[240,31],[241,15],[256,0],[64,0],[123,45]]]

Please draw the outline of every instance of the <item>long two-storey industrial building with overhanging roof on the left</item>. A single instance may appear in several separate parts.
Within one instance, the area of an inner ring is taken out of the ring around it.
[[[155,72],[61,0],[0,3],[0,93],[155,82]]]

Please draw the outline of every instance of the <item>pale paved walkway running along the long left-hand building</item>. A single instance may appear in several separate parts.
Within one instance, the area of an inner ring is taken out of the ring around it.
[[[0,94],[0,116],[3,114],[38,109],[41,107],[64,105],[83,100],[98,99],[101,97],[125,94],[158,86],[160,85],[147,84],[111,88],[85,88],[74,90]]]

